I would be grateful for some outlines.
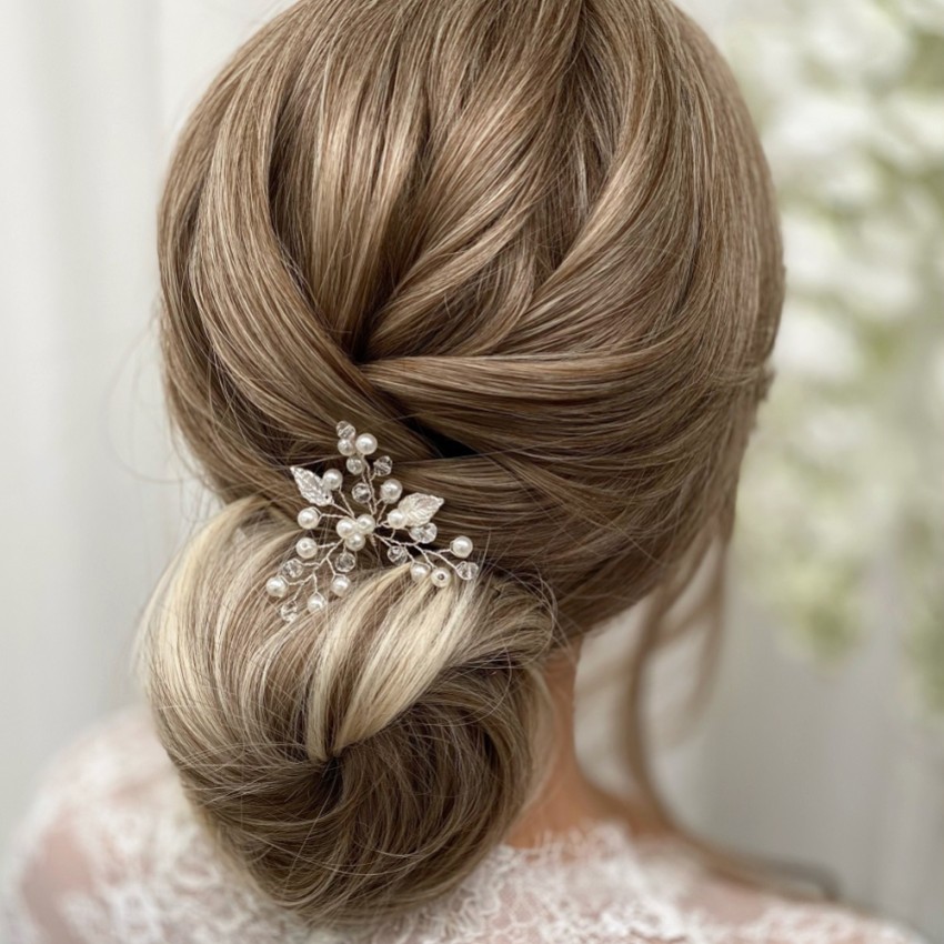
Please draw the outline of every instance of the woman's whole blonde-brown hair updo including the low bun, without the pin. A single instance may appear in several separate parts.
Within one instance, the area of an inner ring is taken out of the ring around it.
[[[755,131],[665,0],[302,0],[192,114],[159,252],[170,410],[222,502],[148,614],[160,736],[279,902],[408,911],[533,795],[548,655],[730,531],[782,301]],[[483,571],[366,549],[285,625],[289,468],[342,418]]]

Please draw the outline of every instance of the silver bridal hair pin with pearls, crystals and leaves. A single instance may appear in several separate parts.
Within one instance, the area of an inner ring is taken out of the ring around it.
[[[479,564],[465,560],[472,553],[469,538],[453,538],[448,551],[424,546],[435,541],[436,526],[432,519],[443,499],[421,492],[404,495],[400,482],[389,478],[393,460],[389,455],[368,459],[376,452],[375,436],[358,434],[347,421],[338,423],[337,432],[338,452],[345,460],[348,472],[359,481],[349,495],[340,469],[315,475],[308,469],[292,466],[295,484],[309,505],[298,514],[299,526],[307,534],[295,543],[294,555],[265,583],[265,592],[282,601],[279,609],[282,619],[287,623],[295,620],[303,597],[310,613],[328,605],[320,579],[334,596],[348,593],[352,585],[348,574],[356,568],[358,551],[368,541],[385,545],[386,558],[393,564],[412,561],[410,576],[418,583],[429,580],[443,588],[453,573],[460,580],[474,580]],[[375,488],[378,480],[382,481]],[[364,511],[355,511],[352,504]],[[456,560],[451,560],[449,554]]]

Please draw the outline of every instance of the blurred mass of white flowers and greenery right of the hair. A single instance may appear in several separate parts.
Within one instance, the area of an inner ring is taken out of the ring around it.
[[[900,548],[898,629],[944,711],[944,0],[741,4],[722,44],[777,183],[789,290],[735,549],[837,657]]]

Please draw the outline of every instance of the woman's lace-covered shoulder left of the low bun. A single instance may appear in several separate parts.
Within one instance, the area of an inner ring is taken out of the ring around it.
[[[259,905],[211,848],[147,712],[131,707],[47,766],[7,857],[0,940],[300,940]]]

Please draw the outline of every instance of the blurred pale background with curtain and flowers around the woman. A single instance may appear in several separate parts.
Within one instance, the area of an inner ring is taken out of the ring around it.
[[[154,208],[197,96],[283,6],[0,0],[0,845],[50,754],[134,697],[137,620],[203,512],[161,404]],[[660,779],[704,834],[944,942],[944,0],[683,6],[761,125],[790,297],[714,687],[662,725]],[[592,680],[629,639],[582,667],[614,782]]]

